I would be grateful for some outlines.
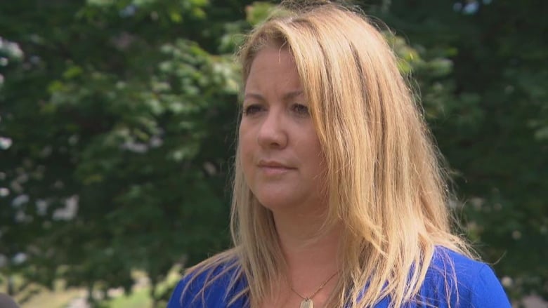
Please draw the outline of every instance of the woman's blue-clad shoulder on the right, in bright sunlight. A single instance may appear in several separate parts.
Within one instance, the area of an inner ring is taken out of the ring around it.
[[[419,302],[434,307],[511,307],[488,265],[447,248],[436,248],[419,292]]]

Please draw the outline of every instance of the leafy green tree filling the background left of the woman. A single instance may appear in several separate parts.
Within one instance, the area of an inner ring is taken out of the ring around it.
[[[61,277],[92,294],[129,290],[131,270],[143,269],[157,299],[174,262],[226,246],[237,70],[222,53],[244,25],[225,19],[231,10],[206,1],[0,4],[3,36],[25,53],[1,93],[0,131],[13,144],[0,160],[0,253],[25,257],[4,276],[46,286]]]

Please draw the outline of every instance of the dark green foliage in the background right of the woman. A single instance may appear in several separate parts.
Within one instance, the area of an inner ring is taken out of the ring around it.
[[[417,0],[374,11],[420,57],[448,67],[415,67],[426,116],[467,232],[514,298],[548,298],[546,9],[542,1]]]

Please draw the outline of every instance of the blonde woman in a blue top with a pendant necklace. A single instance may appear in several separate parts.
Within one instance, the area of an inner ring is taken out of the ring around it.
[[[234,248],[168,307],[510,307],[450,232],[429,133],[383,36],[288,3],[240,53]]]

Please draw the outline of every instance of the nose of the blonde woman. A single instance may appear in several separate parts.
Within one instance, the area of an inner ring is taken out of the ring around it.
[[[287,130],[282,110],[270,108],[263,117],[257,142],[264,148],[284,148],[287,145]]]

